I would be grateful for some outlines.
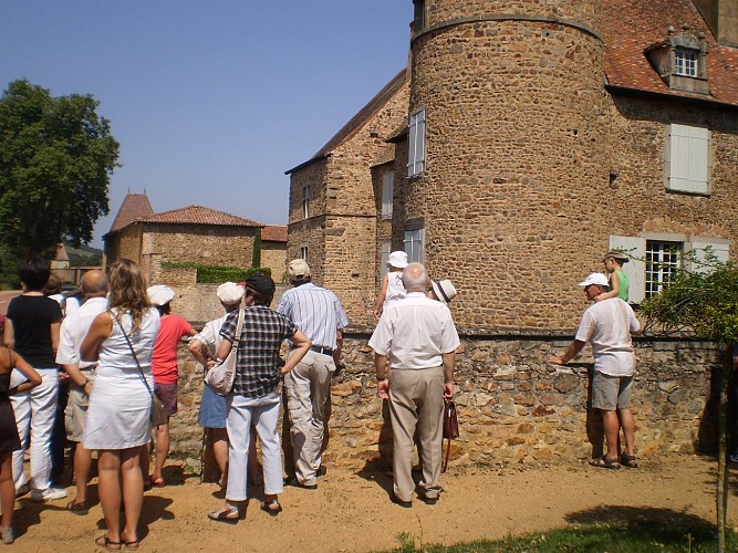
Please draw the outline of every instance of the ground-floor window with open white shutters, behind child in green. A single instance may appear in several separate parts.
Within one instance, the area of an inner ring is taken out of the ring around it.
[[[646,237],[610,237],[610,249],[620,250],[631,258],[623,265],[627,276],[628,302],[641,303],[668,285],[674,272],[684,267],[688,271],[706,271],[701,263],[709,249],[719,261],[728,261],[730,240],[713,237],[688,237],[679,233],[649,233]],[[695,262],[690,261],[694,253]]]

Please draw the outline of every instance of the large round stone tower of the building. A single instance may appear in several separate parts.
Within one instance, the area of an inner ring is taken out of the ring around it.
[[[575,284],[616,217],[597,201],[611,173],[601,2],[414,3],[409,114],[424,116],[425,157],[395,237],[424,229],[460,327],[571,326],[561,305],[583,305]]]

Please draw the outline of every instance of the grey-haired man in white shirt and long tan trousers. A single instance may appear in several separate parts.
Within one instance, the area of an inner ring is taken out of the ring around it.
[[[423,460],[418,497],[428,504],[438,501],[444,398],[454,394],[459,335],[446,304],[426,298],[425,267],[407,265],[403,283],[407,298],[387,305],[368,345],[374,349],[377,392],[381,398],[389,399],[395,479],[392,501],[409,508],[415,489],[412,462],[416,426]]]

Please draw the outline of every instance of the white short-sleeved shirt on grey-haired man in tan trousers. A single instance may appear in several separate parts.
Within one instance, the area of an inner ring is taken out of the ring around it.
[[[368,345],[389,355],[392,368],[428,368],[443,364],[443,354],[459,346],[451,312],[422,292],[386,305]]]

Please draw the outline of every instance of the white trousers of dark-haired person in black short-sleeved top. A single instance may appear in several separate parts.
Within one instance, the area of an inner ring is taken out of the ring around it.
[[[44,491],[51,484],[51,434],[56,416],[59,373],[56,368],[37,368],[41,384],[30,392],[10,396],[21,439],[21,449],[13,451],[13,481],[15,491],[25,483],[23,453],[31,435],[31,489]],[[20,371],[13,371],[10,386],[25,382]]]

